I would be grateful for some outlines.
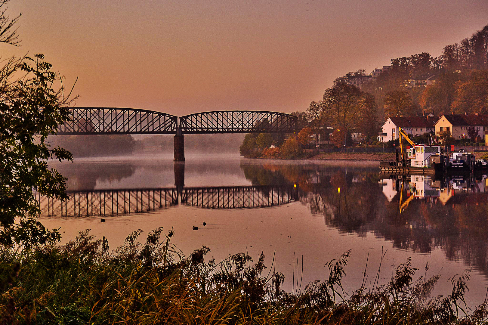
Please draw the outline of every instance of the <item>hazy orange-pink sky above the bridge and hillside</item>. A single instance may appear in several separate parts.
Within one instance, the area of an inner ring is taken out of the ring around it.
[[[487,0],[11,0],[21,47],[79,77],[77,106],[182,116],[292,112],[348,71],[430,52],[488,23]]]

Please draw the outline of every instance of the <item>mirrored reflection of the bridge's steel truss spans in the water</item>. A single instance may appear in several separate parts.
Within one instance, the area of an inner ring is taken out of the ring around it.
[[[148,213],[179,204],[209,209],[277,206],[299,199],[297,189],[277,186],[222,186],[66,191],[69,201],[36,194],[43,217],[113,216]]]

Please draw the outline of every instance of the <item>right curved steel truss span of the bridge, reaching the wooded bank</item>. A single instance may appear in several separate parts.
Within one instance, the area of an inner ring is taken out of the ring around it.
[[[211,111],[182,116],[182,133],[294,133],[296,116],[267,111]]]

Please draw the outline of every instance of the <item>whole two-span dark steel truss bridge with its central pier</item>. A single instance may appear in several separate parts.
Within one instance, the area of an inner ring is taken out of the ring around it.
[[[184,162],[184,135],[195,133],[295,133],[297,117],[268,111],[210,111],[174,115],[135,108],[72,107],[59,135],[174,134],[174,161]]]

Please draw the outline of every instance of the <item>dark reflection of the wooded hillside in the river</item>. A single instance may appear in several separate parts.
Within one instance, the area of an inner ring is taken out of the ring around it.
[[[388,201],[375,169],[280,164],[241,168],[256,185],[297,184],[300,202],[313,215],[323,216],[329,227],[361,237],[370,232],[394,247],[419,253],[440,248],[448,260],[474,265],[488,276],[487,193],[460,192],[445,202],[416,198],[400,212],[400,191]],[[406,187],[402,190],[405,198]]]

